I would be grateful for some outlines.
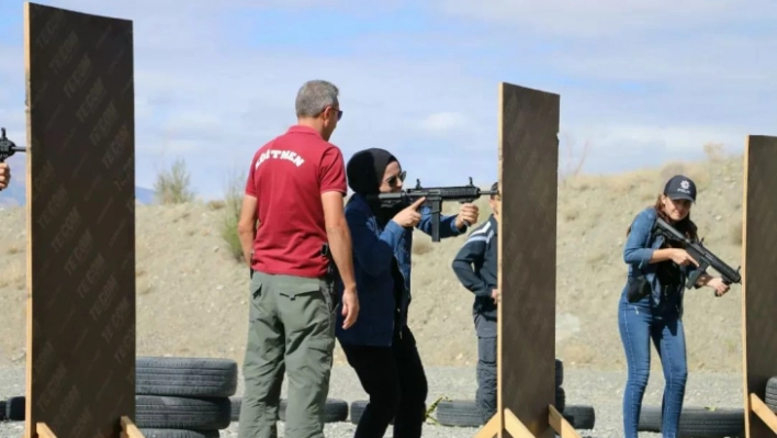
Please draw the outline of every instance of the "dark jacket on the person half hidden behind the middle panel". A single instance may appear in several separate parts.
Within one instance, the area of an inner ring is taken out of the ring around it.
[[[496,304],[491,294],[497,288],[497,229],[492,214],[488,221],[470,233],[452,263],[461,284],[475,294],[473,310],[492,317],[496,317]]]

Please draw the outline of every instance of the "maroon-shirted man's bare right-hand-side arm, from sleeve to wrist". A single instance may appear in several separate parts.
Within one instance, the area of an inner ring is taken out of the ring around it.
[[[356,278],[353,277],[351,233],[346,222],[342,193],[339,191],[322,193],[322,205],[324,206],[324,221],[331,257],[337,265],[342,285],[347,290],[353,290],[356,289]]]

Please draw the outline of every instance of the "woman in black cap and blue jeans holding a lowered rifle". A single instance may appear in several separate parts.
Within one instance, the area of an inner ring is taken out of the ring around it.
[[[650,377],[650,341],[653,340],[664,369],[662,435],[674,438],[683,409],[686,364],[683,330],[683,293],[688,276],[698,267],[685,249],[652,233],[661,217],[698,240],[690,207],[696,202],[696,184],[677,175],[669,179],[655,205],[641,211],[627,231],[623,261],[629,266],[626,287],[618,302],[618,325],[629,368],[623,393],[623,428],[627,438],[637,437],[642,396]],[[729,287],[718,277],[702,273],[696,288],[714,289],[718,296]]]

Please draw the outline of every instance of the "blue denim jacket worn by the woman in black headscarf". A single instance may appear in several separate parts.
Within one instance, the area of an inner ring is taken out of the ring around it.
[[[421,220],[416,228],[431,235],[431,213],[428,206],[419,210]],[[455,215],[440,215],[440,238],[458,236],[466,232],[455,226]],[[392,258],[396,257],[404,278],[401,305],[401,324],[407,324],[407,307],[410,304],[410,269],[413,229],[405,229],[394,221],[381,227],[378,218],[360,194],[353,194],[346,205],[346,221],[353,243],[353,272],[359,294],[359,317],[350,328],[342,328],[341,307],[337,310],[337,338],[342,344],[387,347],[394,338],[394,278]],[[336,284],[340,302],[342,282]]]

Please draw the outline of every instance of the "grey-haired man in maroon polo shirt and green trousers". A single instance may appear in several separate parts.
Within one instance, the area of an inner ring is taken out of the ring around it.
[[[277,437],[284,371],[285,438],[324,438],[338,306],[334,274],[327,273],[330,259],[346,285],[346,328],[359,313],[344,213],[345,160],[329,143],[342,116],[338,94],[327,81],[303,85],[297,124],[251,160],[238,224],[251,268],[239,438]]]

